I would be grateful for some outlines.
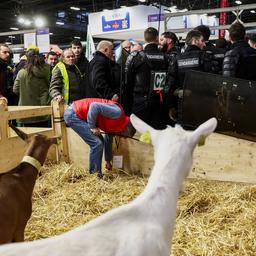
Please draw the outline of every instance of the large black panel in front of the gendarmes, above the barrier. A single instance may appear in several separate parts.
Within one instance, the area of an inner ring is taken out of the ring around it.
[[[194,129],[211,117],[218,119],[218,132],[256,141],[256,81],[188,72],[182,125]]]

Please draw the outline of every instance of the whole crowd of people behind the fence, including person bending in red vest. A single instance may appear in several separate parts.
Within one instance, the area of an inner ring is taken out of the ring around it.
[[[88,62],[81,42],[74,40],[60,57],[54,51],[43,56],[38,48],[28,49],[14,69],[9,66],[10,48],[1,44],[0,98],[20,106],[49,105],[51,100],[65,102],[69,106],[65,112],[67,125],[91,147],[89,170],[101,175],[99,159],[112,137],[103,139],[98,128],[124,132],[131,113],[156,129],[180,122],[187,71],[256,81],[256,35],[246,35],[244,26],[234,23],[229,38],[212,44],[209,27],[200,25],[187,33],[185,45],[181,45],[175,33],[159,36],[155,28],[149,27],[144,31],[145,44],[125,40],[118,58],[113,43],[102,40]],[[100,122],[99,116],[103,118]],[[17,122],[20,126],[49,126],[48,117]],[[134,133],[129,131],[129,135]],[[111,154],[107,153],[108,169],[110,162]]]

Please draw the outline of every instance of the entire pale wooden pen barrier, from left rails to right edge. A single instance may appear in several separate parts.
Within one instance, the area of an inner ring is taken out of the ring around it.
[[[52,146],[48,158],[73,162],[88,167],[89,147],[63,122],[64,105],[54,102],[46,107],[8,107],[0,105],[0,173],[15,167],[23,157],[26,144],[9,128],[8,121],[16,118],[51,115],[52,128],[22,128],[28,133],[62,136],[59,146]],[[117,138],[113,154],[123,159],[123,169],[148,175],[154,164],[153,148],[149,144]],[[214,133],[206,145],[195,149],[190,177],[220,181],[256,183],[256,143]]]

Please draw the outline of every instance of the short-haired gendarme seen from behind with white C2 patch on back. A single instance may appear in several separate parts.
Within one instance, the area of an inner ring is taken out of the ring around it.
[[[155,129],[164,129],[169,121],[164,104],[168,61],[158,49],[155,28],[147,28],[144,39],[144,51],[132,52],[126,61],[124,109],[127,115],[134,113]]]

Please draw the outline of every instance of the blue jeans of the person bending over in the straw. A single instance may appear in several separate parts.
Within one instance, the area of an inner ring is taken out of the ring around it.
[[[89,172],[98,172],[102,174],[102,156],[103,150],[106,161],[112,160],[112,135],[94,135],[90,127],[85,120],[81,120],[77,117],[75,111],[71,106],[69,106],[64,113],[64,120],[67,125],[69,125],[89,146],[90,146],[90,156],[89,156]]]

